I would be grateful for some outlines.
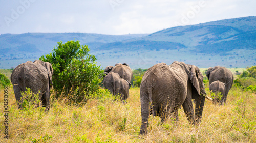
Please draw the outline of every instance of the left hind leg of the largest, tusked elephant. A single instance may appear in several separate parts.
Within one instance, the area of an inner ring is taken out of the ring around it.
[[[146,134],[146,128],[148,126],[148,118],[150,116],[150,100],[148,96],[141,94],[141,126],[140,134]]]

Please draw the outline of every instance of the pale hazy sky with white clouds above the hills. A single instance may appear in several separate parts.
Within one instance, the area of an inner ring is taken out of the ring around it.
[[[256,16],[245,0],[0,0],[0,34],[153,33],[178,25]]]

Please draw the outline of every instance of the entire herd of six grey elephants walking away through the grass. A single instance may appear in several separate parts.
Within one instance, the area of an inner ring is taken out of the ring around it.
[[[124,101],[129,97],[129,89],[133,77],[132,69],[127,64],[107,66],[104,70],[103,85],[114,96],[120,95]],[[49,110],[50,88],[52,86],[53,68],[48,62],[35,60],[18,65],[12,72],[11,82],[18,107],[23,101],[22,92],[30,88],[32,92],[40,91],[42,106]],[[215,104],[226,104],[227,94],[233,83],[233,75],[225,67],[208,68],[206,76],[209,88],[215,95],[206,95],[203,75],[199,68],[184,62],[175,61],[171,65],[158,63],[149,68],[143,75],[140,85],[141,127],[140,134],[146,133],[148,117],[160,116],[161,121],[173,116],[178,121],[178,109],[183,106],[189,123],[197,125],[201,122],[205,98]],[[192,100],[195,100],[195,113]]]

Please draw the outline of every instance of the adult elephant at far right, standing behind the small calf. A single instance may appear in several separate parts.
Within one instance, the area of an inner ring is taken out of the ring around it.
[[[218,81],[218,80],[225,84],[226,90],[223,93],[223,98],[221,98],[220,104],[221,105],[226,104],[228,92],[231,89],[234,81],[234,76],[232,72],[225,67],[215,66],[214,68],[212,67],[208,68],[206,72],[206,76],[209,79],[209,85],[212,82]]]

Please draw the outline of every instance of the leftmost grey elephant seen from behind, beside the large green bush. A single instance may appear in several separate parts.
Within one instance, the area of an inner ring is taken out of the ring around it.
[[[52,85],[52,65],[48,62],[35,60],[34,62],[27,61],[19,64],[12,72],[11,82],[18,108],[22,107],[23,101],[21,92],[30,88],[33,93],[39,93],[39,99],[42,101],[42,107],[49,109],[50,87]]]

